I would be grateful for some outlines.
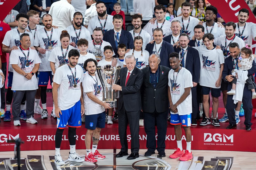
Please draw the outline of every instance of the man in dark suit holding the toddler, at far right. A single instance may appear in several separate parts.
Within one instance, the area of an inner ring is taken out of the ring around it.
[[[231,81],[234,78],[233,78],[233,75],[231,74],[231,71],[236,67],[235,63],[237,63],[238,56],[240,55],[240,49],[239,49],[238,43],[231,43],[229,45],[229,51],[230,51],[230,56],[225,59],[224,69],[222,71],[223,80],[226,82],[229,82],[227,91],[230,91],[232,88]],[[248,71],[247,76],[251,76],[256,72],[256,64],[254,61],[251,69],[247,71]],[[253,111],[253,105],[251,103],[251,97],[252,97],[251,90],[248,89],[247,84],[245,83],[245,87],[243,88],[243,99],[242,99],[243,109],[245,110],[245,122],[244,122],[245,130],[251,130],[251,125],[252,125],[251,115]],[[227,109],[227,116],[229,119],[229,125],[227,126],[226,129],[233,129],[237,127],[235,110],[236,111],[238,110],[238,113],[239,113],[239,109],[240,109],[240,106],[238,106],[238,104],[234,104],[233,95],[227,95],[226,109]]]

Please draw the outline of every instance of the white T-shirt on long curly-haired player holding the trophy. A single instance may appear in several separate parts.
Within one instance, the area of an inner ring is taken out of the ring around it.
[[[89,99],[86,94],[87,92],[92,92],[93,95],[96,96],[100,101],[103,100],[103,88],[97,72],[95,72],[95,76],[92,77],[90,76],[90,74],[86,74],[83,79],[85,115],[99,114],[104,112],[105,108]]]

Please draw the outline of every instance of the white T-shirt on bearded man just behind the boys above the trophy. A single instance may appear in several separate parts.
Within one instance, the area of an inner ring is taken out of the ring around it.
[[[107,41],[103,41],[102,40],[102,44],[98,44],[95,45],[93,40],[88,42],[88,48],[87,48],[87,52],[94,54],[94,56],[96,57],[97,61],[103,60],[105,58],[104,55],[104,47],[109,45],[111,46],[111,44]],[[115,55],[115,53],[113,52],[113,56]]]

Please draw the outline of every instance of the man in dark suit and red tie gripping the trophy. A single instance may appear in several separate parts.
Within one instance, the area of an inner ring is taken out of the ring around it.
[[[128,155],[127,123],[131,132],[131,154],[127,159],[139,157],[139,115],[141,113],[141,85],[143,72],[135,67],[135,57],[126,56],[126,67],[120,72],[117,84],[112,85],[113,90],[119,90],[118,100],[118,133],[121,143],[121,151],[115,156],[117,158]]]

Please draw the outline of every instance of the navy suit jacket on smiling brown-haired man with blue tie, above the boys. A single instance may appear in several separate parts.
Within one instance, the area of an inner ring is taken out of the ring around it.
[[[117,54],[117,48],[115,46],[114,29],[110,29],[109,31],[105,32],[102,40],[111,44],[115,53],[115,56],[113,57],[119,57]],[[119,44],[125,44],[127,49],[133,49],[134,43],[131,33],[122,29],[121,36],[119,36]]]

